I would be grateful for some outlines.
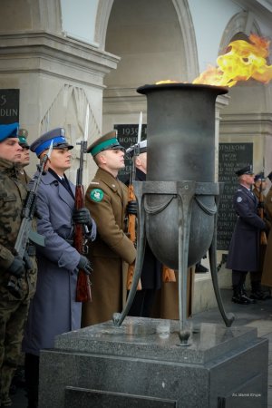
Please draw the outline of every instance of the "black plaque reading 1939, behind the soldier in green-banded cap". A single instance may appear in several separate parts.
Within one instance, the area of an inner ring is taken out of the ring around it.
[[[132,144],[137,143],[138,140],[138,124],[117,124],[114,125],[117,130],[117,138],[120,144],[128,149]],[[146,139],[147,126],[143,124],[141,127],[141,141]],[[125,159],[125,168],[118,173],[118,179],[126,182],[131,175],[131,159]]]

